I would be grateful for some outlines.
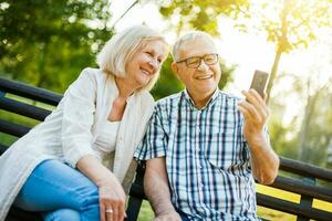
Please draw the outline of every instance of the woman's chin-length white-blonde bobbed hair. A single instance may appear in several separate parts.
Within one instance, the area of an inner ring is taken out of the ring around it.
[[[141,49],[146,41],[159,40],[167,45],[164,36],[145,25],[134,25],[112,36],[96,56],[100,69],[111,75],[124,77],[126,65],[132,55]],[[142,90],[152,90],[159,77],[159,71]]]

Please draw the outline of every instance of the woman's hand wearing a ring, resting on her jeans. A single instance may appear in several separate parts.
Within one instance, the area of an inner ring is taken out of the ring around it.
[[[100,211],[102,221],[123,221],[125,214],[126,194],[112,173],[104,182],[98,185]],[[108,212],[106,212],[108,211]],[[112,212],[110,212],[112,211]]]

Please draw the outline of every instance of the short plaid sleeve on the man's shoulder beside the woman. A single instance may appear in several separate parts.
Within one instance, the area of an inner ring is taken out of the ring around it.
[[[148,123],[145,136],[138,145],[134,157],[138,160],[147,160],[166,156],[168,136],[164,130],[162,112],[155,108]]]

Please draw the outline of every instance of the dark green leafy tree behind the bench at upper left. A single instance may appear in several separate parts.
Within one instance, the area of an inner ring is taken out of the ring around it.
[[[0,71],[9,77],[63,92],[112,36],[108,1],[0,3]]]

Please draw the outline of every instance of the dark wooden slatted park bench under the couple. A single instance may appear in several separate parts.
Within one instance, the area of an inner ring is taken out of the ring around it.
[[[13,137],[21,137],[30,129],[27,122],[21,117],[11,115],[21,115],[25,119],[37,119],[42,122],[50,109],[44,106],[56,106],[62,95],[55,94],[42,88],[33,87],[20,82],[0,78],[0,136],[3,134]],[[40,105],[40,104],[46,105]],[[21,123],[17,120],[20,118]],[[3,143],[3,141],[2,141]],[[8,141],[7,141],[8,143]],[[10,144],[0,144],[0,155]],[[313,208],[313,200],[323,200],[332,202],[332,171],[319,168],[312,165],[303,164],[297,160],[280,157],[281,166],[278,178],[270,187],[286,190],[299,194],[299,202],[291,202],[278,198],[278,196],[267,196],[257,193],[257,203],[264,208],[295,214],[298,220],[332,220],[332,209],[324,211]],[[137,220],[143,200],[146,199],[143,189],[144,162],[137,168],[135,181],[129,191],[127,207],[127,220]],[[295,177],[295,178],[294,178]],[[320,182],[323,182],[321,185]],[[267,220],[262,218],[263,220]],[[12,207],[7,221],[32,221],[41,220],[39,213],[27,212]]]

